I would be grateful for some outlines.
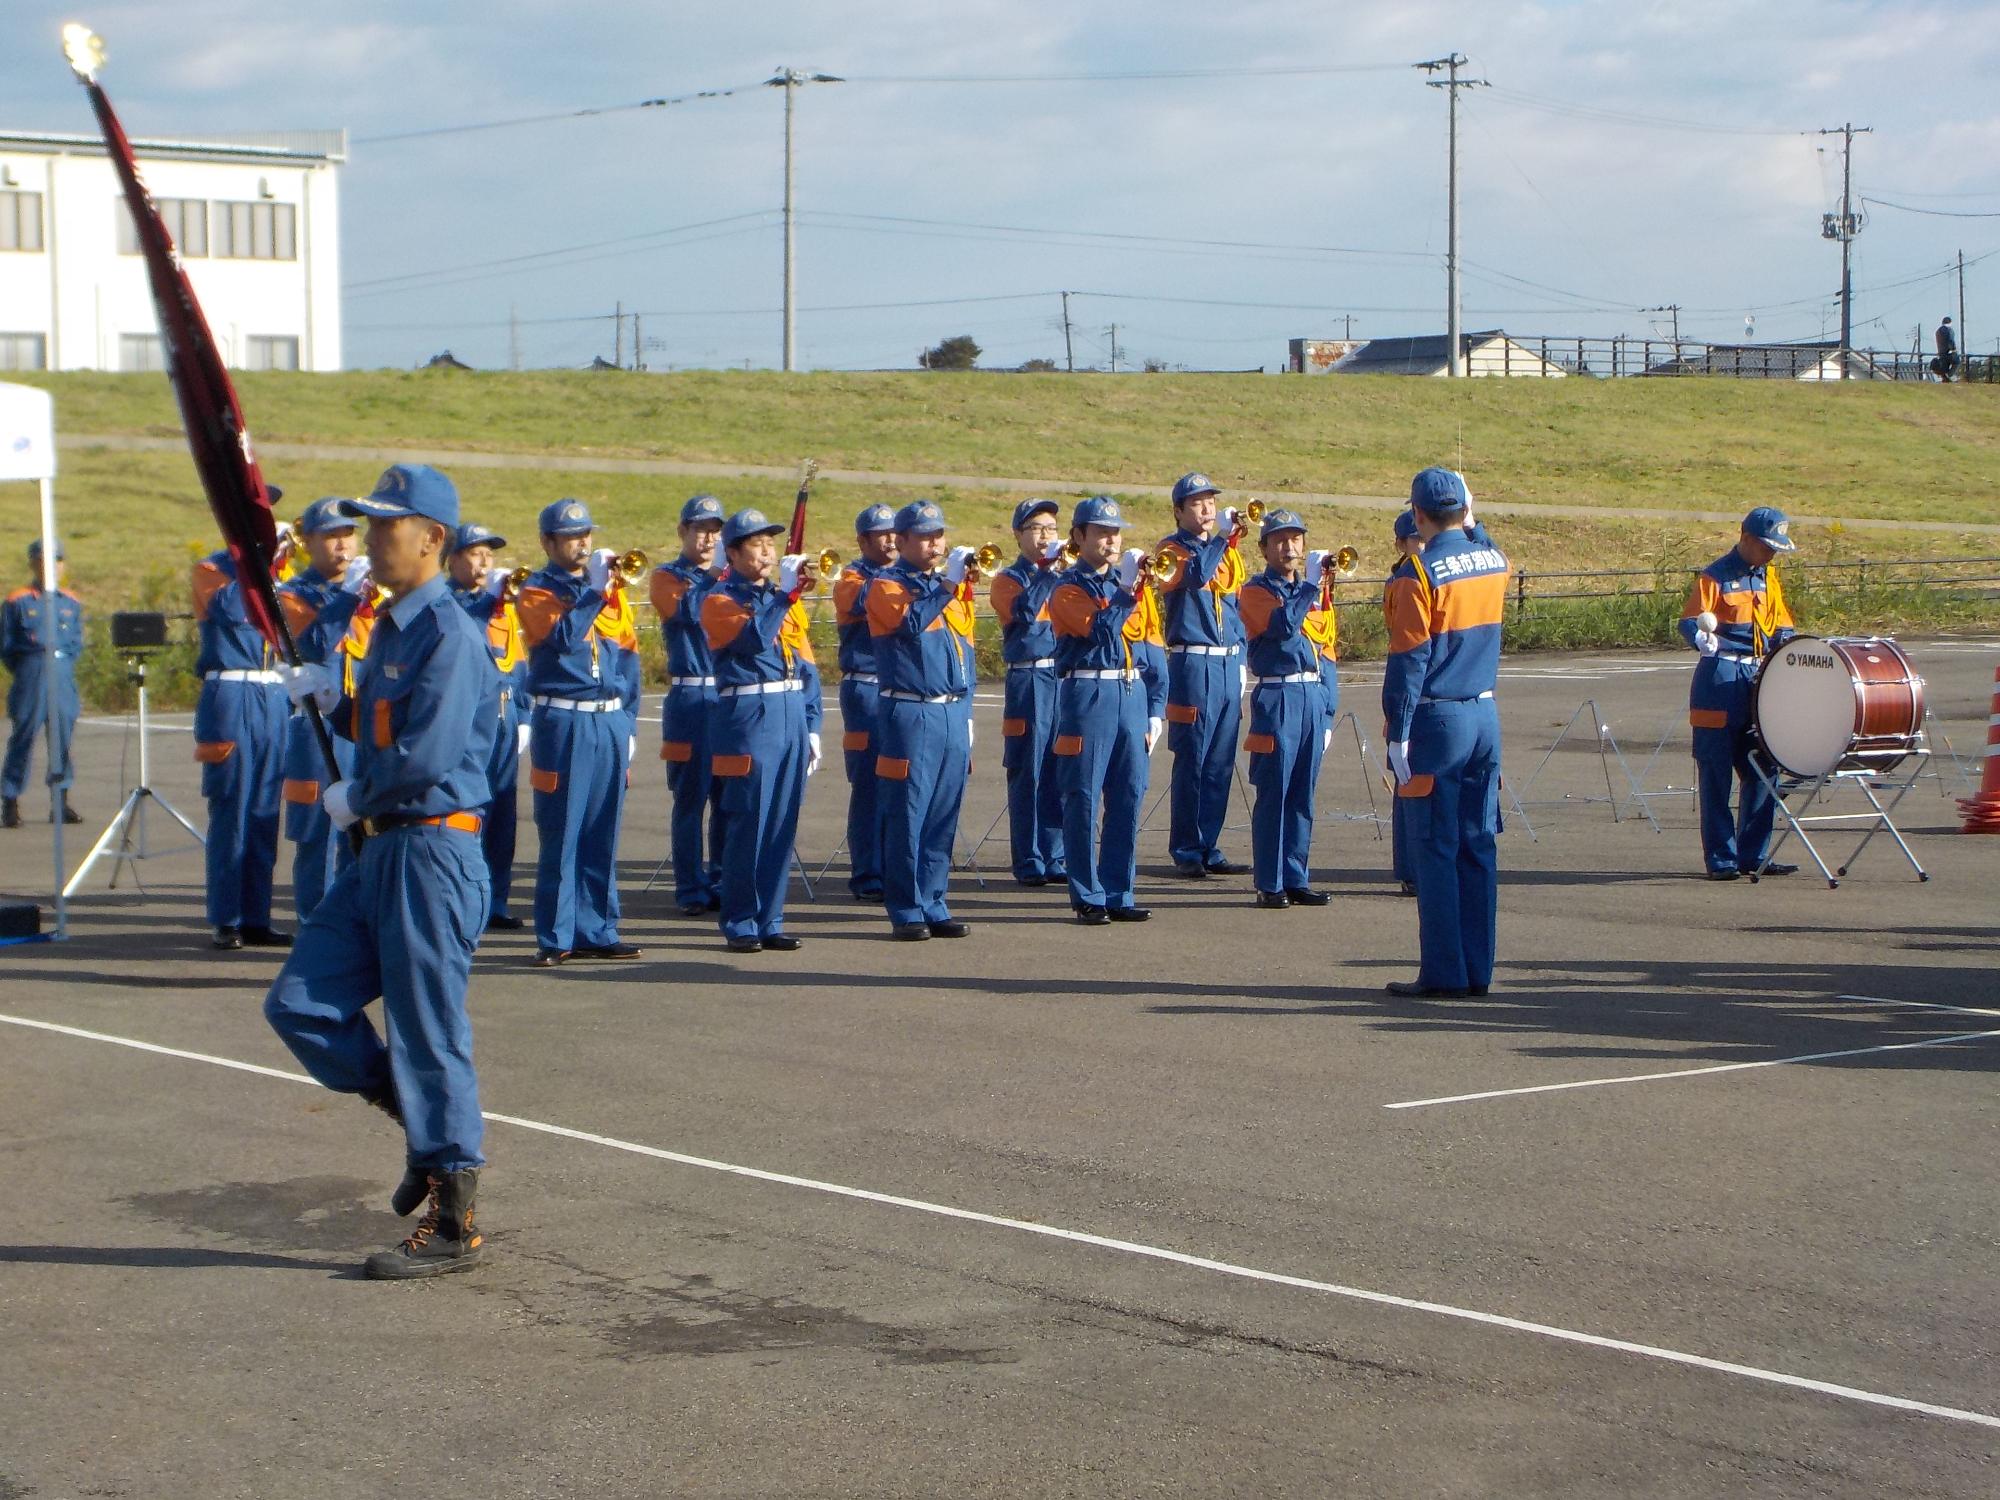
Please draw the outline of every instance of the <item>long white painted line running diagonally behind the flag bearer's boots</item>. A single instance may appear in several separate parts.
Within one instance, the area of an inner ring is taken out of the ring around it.
[[[208,1052],[186,1052],[182,1048],[158,1046],[154,1042],[138,1042],[130,1036],[110,1036],[108,1032],[86,1032],[80,1026],[58,1026],[48,1020],[32,1020],[28,1016],[8,1016],[0,1014],[0,1022],[10,1026],[30,1026],[42,1032],[56,1032],[60,1036],[76,1036],[86,1042],[110,1042],[112,1046],[136,1048],[138,1052],[154,1052],[166,1058],[186,1058],[190,1062],[210,1062],[218,1068],[234,1068],[238,1072],[254,1072],[264,1078],[282,1078],[288,1084],[312,1084],[306,1074],[286,1072],[282,1068],[264,1068],[256,1062],[238,1062],[234,1058],[218,1058]],[[1988,1032],[1990,1036],[2000,1036],[2000,1032]],[[316,1086],[316,1084],[314,1084]],[[568,1126],[546,1124],[542,1120],[524,1120],[516,1114],[496,1114],[486,1110],[482,1118],[494,1124],[510,1124],[520,1130],[534,1130],[544,1136],[558,1136],[562,1140],[580,1140],[590,1146],[606,1146],[608,1150],[630,1152],[634,1156],[650,1156],[660,1162],[676,1162],[680,1166],[694,1166],[704,1172],[724,1172],[728,1176],[750,1178],[754,1182],[772,1182],[782,1188],[804,1188],[806,1192],[824,1192],[836,1198],[854,1198],[858,1202],[882,1204],[886,1208],[908,1208],[918,1214],[934,1214],[938,1218],[956,1218],[966,1224],[986,1224],[988,1228],[1014,1230],[1018,1234],[1038,1234],[1050,1240],[1068,1240],[1070,1244],[1088,1244],[1096,1250],[1116,1250],[1128,1256],[1140,1256],[1144,1260],[1164,1260],[1174,1266],[1188,1266],[1192,1270],[1206,1270],[1218,1276],[1234,1276],[1238,1280],[1266,1282],[1270,1286],[1292,1286],[1302,1292],[1324,1292],[1326,1296],[1350,1298],[1354,1302],[1372,1302],[1384,1308],[1402,1308],[1406,1312],[1430,1312],[1440,1318],[1456,1318],[1460,1322],[1484,1324],[1488,1328],[1506,1328],[1516,1334],[1536,1334],[1540,1338],[1552,1338],[1564,1344],[1584,1344],[1588,1348],[1614,1350],[1618,1354],[1636,1354],[1646,1360],[1660,1360],[1664,1364],[1682,1364],[1696,1370],[1714,1370],[1716,1374],[1732,1374],[1744,1380],[1756,1380],[1768,1386],[1786,1386],[1790,1390],[1810,1390],[1820,1396],[1836,1396],[1848,1402],[1862,1402],[1866,1406],[1888,1406],[1898,1412],[1916,1412],[1920,1416],[1938,1416],[1948,1422],[1968,1422],[1972,1426],[1996,1428],[2000,1430],[2000,1416],[1988,1412],[1972,1412],[1958,1406],[1938,1406],[1934,1402],[1912,1400],[1910,1396],[1888,1396],[1878,1390],[1862,1390],[1860,1386],[1842,1386],[1830,1380],[1814,1380],[1810,1376],[1786,1374],[1784,1370],[1762,1370],[1754,1364],[1734,1364],[1730,1360],[1712,1360],[1706,1354],[1686,1354],[1682,1350],[1662,1348],[1658,1344],[1636,1344],[1628,1338],[1606,1338],[1604,1334],[1586,1334],[1576,1328],[1558,1328],[1546,1322],[1528,1322],[1526,1318],[1508,1318],[1498,1312],[1480,1312],[1476,1308],[1458,1308],[1448,1302],[1426,1302],[1422,1298],[1396,1296],[1392,1292],[1370,1292],[1362,1286],[1342,1286],[1340,1282],[1322,1282],[1310,1276],[1288,1276],[1276,1270],[1258,1270],[1256,1266],[1240,1266],[1230,1260],[1212,1260],[1208,1256],[1190,1256],[1184,1250],[1168,1250],[1156,1244],[1140,1244],[1136,1240],[1114,1240],[1104,1234],[1088,1234],[1084,1230],[1066,1230],[1054,1224],[1036,1224],[1026,1218],[1004,1218],[1000,1214],[982,1214],[972,1208],[954,1208],[952,1204],[934,1204],[924,1198],[902,1198],[890,1192],[874,1192],[870,1188],[848,1188],[838,1182],[820,1182],[818,1178],[792,1176],[790,1172],[768,1172],[758,1166],[738,1166],[734,1162],[718,1162],[708,1156],[688,1156],[686,1152],[670,1152],[660,1146],[644,1146],[636,1140],[620,1140],[618,1136],[598,1136],[588,1130],[570,1130]]]

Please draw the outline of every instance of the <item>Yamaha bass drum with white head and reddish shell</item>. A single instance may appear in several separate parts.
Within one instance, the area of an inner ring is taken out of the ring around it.
[[[1886,636],[1792,636],[1758,668],[1750,722],[1792,776],[1886,772],[1924,736],[1924,678]]]

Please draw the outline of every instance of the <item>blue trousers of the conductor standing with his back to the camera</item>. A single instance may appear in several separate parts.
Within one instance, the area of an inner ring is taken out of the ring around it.
[[[1410,780],[1396,788],[1416,868],[1418,984],[1492,984],[1500,914],[1500,710],[1492,698],[1418,704]]]

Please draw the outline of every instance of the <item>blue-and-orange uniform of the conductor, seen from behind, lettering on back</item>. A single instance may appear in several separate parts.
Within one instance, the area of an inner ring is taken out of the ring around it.
[[[1434,536],[1388,586],[1382,718],[1408,740],[1406,802],[1422,946],[1418,984],[1484,990],[1498,920],[1500,620],[1508,562],[1462,530]]]

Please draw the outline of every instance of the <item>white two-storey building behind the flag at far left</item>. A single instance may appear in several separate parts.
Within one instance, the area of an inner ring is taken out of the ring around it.
[[[344,130],[134,140],[222,356],[340,368]],[[132,216],[96,136],[0,132],[0,370],[158,370]]]

